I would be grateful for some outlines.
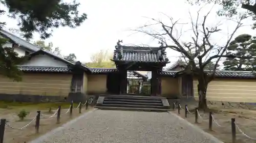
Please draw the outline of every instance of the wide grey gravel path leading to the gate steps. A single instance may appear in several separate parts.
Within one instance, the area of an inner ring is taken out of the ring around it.
[[[214,143],[184,120],[168,112],[95,110],[36,142],[186,142]]]

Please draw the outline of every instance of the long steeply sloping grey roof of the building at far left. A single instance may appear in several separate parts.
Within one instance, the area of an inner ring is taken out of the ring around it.
[[[26,49],[29,49],[29,50],[31,50],[33,52],[35,52],[35,51],[40,49],[36,45],[31,44],[30,42],[28,42],[28,41],[26,41],[26,40],[24,40],[22,38],[19,38],[19,37],[15,36],[14,34],[12,34],[10,32],[7,32],[7,31],[5,31],[3,29],[0,30],[0,33],[1,33],[1,35],[3,37],[9,39],[11,42],[13,42],[13,43],[15,43],[15,44],[17,44],[17,45],[19,45],[21,47],[24,47]]]

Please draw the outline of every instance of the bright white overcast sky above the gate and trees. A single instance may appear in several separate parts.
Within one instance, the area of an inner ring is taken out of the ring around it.
[[[68,0],[67,0],[68,1]],[[79,0],[77,0],[79,2]],[[161,13],[183,22],[189,22],[188,10],[191,14],[196,16],[199,7],[190,6],[184,3],[183,0],[158,0],[158,1],[128,1],[128,0],[80,0],[80,12],[88,14],[88,19],[82,23],[80,27],[71,29],[69,27],[60,27],[54,29],[53,36],[47,39],[47,42],[53,42],[54,47],[60,47],[62,54],[75,53],[77,60],[81,62],[90,62],[90,55],[100,49],[114,50],[118,39],[123,40],[123,44],[147,44],[151,46],[158,46],[158,41],[145,36],[144,34],[132,34],[134,32],[130,29],[142,26],[149,21],[148,18],[160,18],[166,21],[166,17]],[[207,13],[211,7],[205,7],[202,16]],[[218,7],[212,10],[208,19],[208,24],[216,24],[221,19],[216,16],[215,11]],[[201,19],[202,19],[201,16]],[[7,16],[1,16],[0,21],[6,21],[6,28],[17,28],[17,22]],[[167,21],[169,22],[169,21]],[[251,24],[247,20],[246,24]],[[226,32],[229,28],[233,28],[234,23],[222,21],[222,28],[224,32],[222,35],[215,35],[212,38],[215,42],[224,42],[227,38]],[[227,28],[228,27],[228,28]],[[160,27],[161,28],[161,27]],[[181,27],[178,27],[178,30]],[[154,28],[155,29],[155,28]],[[190,40],[191,31],[187,31],[189,25],[183,26],[182,41]],[[242,27],[236,35],[239,34],[255,35],[256,30],[251,30],[250,26]],[[132,35],[131,35],[132,34]],[[34,41],[38,40],[38,34],[34,35]],[[178,53],[172,50],[167,50],[167,56],[170,62],[175,62]]]

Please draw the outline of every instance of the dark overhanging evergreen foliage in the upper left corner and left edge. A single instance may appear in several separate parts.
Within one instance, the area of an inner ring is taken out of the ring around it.
[[[23,33],[27,39],[32,38],[33,32],[39,33],[42,39],[46,39],[51,36],[53,28],[59,26],[75,28],[87,19],[85,13],[79,15],[77,9],[80,4],[75,1],[67,3],[59,0],[0,0],[0,3],[7,7],[10,17],[19,21],[17,24],[20,33]],[[6,11],[1,7],[0,16],[5,13]],[[5,24],[6,22],[2,18],[0,20],[0,30]],[[17,57],[16,52],[3,47],[5,42],[6,39],[0,38],[0,74],[17,79],[20,72],[18,72],[15,65],[21,60]]]

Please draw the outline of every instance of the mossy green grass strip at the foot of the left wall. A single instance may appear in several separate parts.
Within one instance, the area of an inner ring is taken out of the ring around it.
[[[37,110],[42,110],[42,109],[56,109],[58,108],[58,106],[61,106],[61,108],[69,108],[70,103],[63,103],[63,102],[59,102],[59,103],[24,103],[24,102],[6,102],[6,101],[0,101],[0,108],[4,108],[4,109],[13,109],[13,108],[20,108],[22,107],[23,109],[29,109],[29,108],[33,108],[33,109],[37,109]],[[78,104],[74,103],[73,104],[74,107],[77,107]]]

